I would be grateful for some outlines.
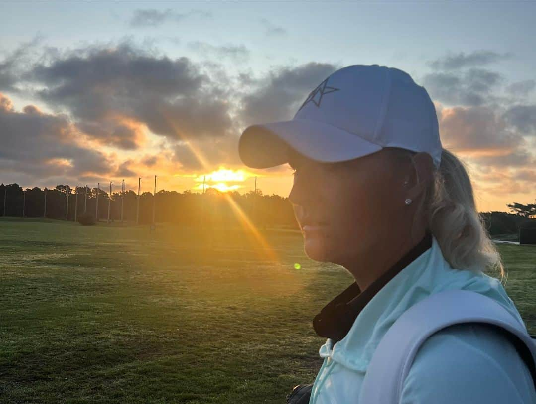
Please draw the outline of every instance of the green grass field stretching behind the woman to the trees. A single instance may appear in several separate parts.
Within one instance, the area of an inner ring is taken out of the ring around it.
[[[237,230],[0,221],[0,402],[284,403],[352,279],[262,235],[279,264]],[[536,333],[536,248],[499,248]]]

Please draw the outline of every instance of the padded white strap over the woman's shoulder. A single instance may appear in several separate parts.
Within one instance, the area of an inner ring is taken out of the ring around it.
[[[445,290],[406,310],[385,333],[368,365],[359,402],[397,404],[415,355],[426,339],[460,323],[500,327],[519,343],[536,386],[536,342],[525,326],[492,298],[468,290]],[[528,359],[527,359],[528,358]]]

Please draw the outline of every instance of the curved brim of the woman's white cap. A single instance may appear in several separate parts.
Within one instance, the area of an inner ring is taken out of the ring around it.
[[[382,149],[336,126],[293,119],[248,126],[239,140],[239,155],[248,167],[269,168],[288,162],[289,147],[321,162],[353,160]]]

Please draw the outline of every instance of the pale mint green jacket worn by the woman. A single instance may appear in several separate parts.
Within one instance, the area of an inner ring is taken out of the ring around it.
[[[423,298],[464,289],[493,298],[522,323],[501,283],[482,272],[453,269],[433,237],[432,246],[370,300],[348,334],[320,348],[324,358],[310,404],[360,403],[374,350],[394,321]],[[381,386],[378,386],[381,388]],[[399,404],[536,404],[525,363],[502,334],[478,324],[455,325],[432,335],[418,351]]]

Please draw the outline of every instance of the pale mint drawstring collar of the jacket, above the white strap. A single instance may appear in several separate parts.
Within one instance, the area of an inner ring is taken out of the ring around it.
[[[384,285],[359,312],[350,330],[337,343],[328,338],[320,348],[323,358],[358,372],[366,372],[378,343],[402,313],[415,303],[443,290],[472,290],[488,296],[523,323],[501,282],[480,270],[452,268],[432,236],[423,252]]]

